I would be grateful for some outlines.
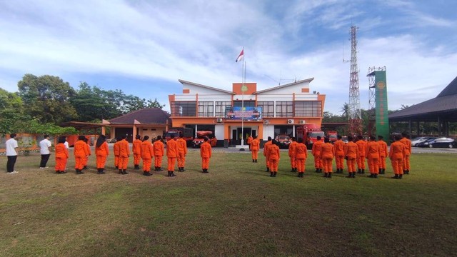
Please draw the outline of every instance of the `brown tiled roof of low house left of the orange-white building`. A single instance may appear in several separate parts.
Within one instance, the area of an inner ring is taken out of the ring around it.
[[[134,124],[137,120],[141,124],[166,124],[171,123],[170,114],[160,108],[145,108],[109,120],[111,124]]]

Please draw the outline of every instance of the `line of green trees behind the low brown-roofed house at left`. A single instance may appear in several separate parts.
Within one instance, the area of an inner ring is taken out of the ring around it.
[[[141,99],[122,90],[105,90],[86,82],[74,89],[58,76],[25,74],[18,82],[18,91],[0,88],[0,134],[76,133],[62,128],[66,121],[99,123],[131,111],[163,108],[157,99]]]

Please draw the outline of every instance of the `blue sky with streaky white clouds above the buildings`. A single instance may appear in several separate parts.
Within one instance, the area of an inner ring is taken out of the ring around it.
[[[388,109],[439,94],[457,76],[453,0],[0,0],[0,88],[24,74],[59,76],[157,99],[178,79],[231,91],[314,78],[324,111],[349,99],[351,25],[358,26],[360,103],[369,67],[386,66]]]

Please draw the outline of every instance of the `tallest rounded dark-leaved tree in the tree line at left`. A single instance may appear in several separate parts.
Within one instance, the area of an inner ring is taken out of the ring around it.
[[[60,124],[76,119],[76,110],[69,102],[76,92],[59,77],[26,74],[18,87],[24,114],[36,117],[41,123]]]

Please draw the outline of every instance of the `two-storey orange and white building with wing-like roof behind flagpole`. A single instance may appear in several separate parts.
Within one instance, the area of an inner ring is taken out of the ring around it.
[[[232,91],[179,80],[182,94],[169,95],[173,127],[212,131],[218,146],[239,146],[243,138],[266,141],[295,136],[303,124],[321,126],[325,95],[310,93],[314,78],[257,91],[256,83],[234,83]]]

